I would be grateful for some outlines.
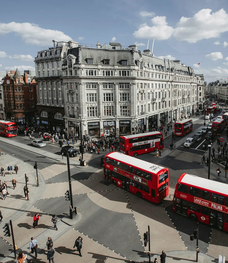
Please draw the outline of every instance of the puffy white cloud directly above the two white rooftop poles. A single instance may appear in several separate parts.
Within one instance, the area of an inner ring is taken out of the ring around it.
[[[169,39],[174,33],[174,28],[167,26],[165,16],[156,16],[151,19],[152,27],[146,23],[141,24],[139,29],[133,33],[137,38],[155,38],[156,40]]]

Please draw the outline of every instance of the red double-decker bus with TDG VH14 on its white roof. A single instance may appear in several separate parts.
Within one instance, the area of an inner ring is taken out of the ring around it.
[[[156,204],[169,193],[168,168],[116,151],[105,155],[104,178]]]

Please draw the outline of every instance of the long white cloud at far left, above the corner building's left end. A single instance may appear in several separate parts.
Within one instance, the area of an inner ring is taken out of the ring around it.
[[[41,28],[31,23],[0,23],[0,35],[15,33],[27,44],[51,45],[52,39],[59,41],[73,40],[61,31]]]

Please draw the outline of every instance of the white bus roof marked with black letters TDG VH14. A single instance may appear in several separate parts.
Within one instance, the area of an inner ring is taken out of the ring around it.
[[[134,158],[129,155],[125,155],[123,153],[118,153],[117,151],[108,154],[107,157],[117,159],[119,161],[123,161],[124,163],[127,163],[132,166],[136,166],[139,168],[142,168],[150,173],[158,173],[161,169],[166,169],[165,167],[159,166],[157,164],[152,164],[137,158]]]

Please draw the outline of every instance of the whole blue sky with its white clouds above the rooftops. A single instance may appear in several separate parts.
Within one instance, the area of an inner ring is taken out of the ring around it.
[[[179,59],[208,82],[228,78],[226,0],[3,1],[1,10],[0,71],[32,69],[37,52],[54,38],[137,42],[139,50],[148,39],[151,49],[155,38],[156,57]]]

